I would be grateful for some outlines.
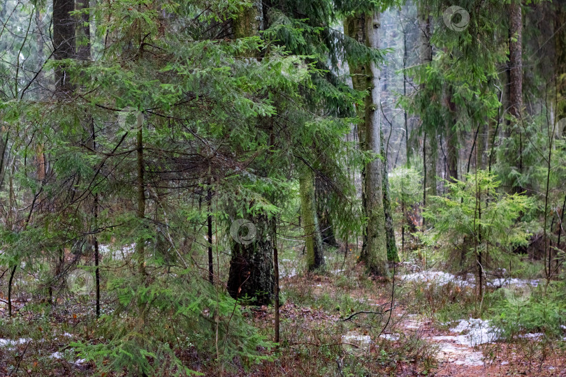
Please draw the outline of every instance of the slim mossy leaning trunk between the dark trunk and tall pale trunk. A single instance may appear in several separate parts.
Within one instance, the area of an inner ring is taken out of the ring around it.
[[[305,233],[305,248],[307,250],[307,267],[309,271],[324,265],[322,239],[317,219],[317,209],[314,203],[314,173],[307,166],[302,168],[299,177],[300,210]]]

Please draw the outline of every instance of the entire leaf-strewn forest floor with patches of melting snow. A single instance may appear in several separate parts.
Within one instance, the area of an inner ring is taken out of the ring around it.
[[[326,272],[305,274],[304,258],[297,254],[282,256],[281,342],[278,350],[267,351],[273,360],[226,368],[224,375],[566,376],[566,338],[532,333],[500,339],[486,314],[488,303],[478,311],[471,276],[399,263],[394,279],[376,280],[356,258],[335,252],[328,255]],[[488,288],[538,282],[495,277]],[[20,319],[0,328],[0,376],[96,375],[94,364],[70,346],[94,334],[88,313],[92,297],[61,302],[50,318],[24,307],[32,300],[18,296],[14,306]],[[242,310],[273,337],[273,306]],[[10,323],[6,318],[2,299],[0,320]],[[204,364],[198,370],[219,376]]]

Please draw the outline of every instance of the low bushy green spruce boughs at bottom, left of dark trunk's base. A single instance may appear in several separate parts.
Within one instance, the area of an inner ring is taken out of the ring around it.
[[[272,348],[272,343],[245,322],[238,303],[202,283],[190,269],[136,283],[135,276],[110,281],[109,290],[119,305],[101,317],[97,335],[106,341],[71,343],[99,371],[196,374],[177,357],[182,351],[179,339],[194,344],[198,353],[215,355],[215,362],[225,369],[235,360],[243,365],[270,360],[262,350]]]

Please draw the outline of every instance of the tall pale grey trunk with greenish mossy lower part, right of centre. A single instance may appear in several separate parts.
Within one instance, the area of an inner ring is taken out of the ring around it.
[[[368,47],[379,48],[379,13],[366,15],[365,43]],[[369,151],[383,156],[380,117],[381,94],[379,92],[380,71],[375,63],[367,65],[368,96],[365,99],[365,142]],[[383,161],[376,158],[365,165],[365,195],[368,212],[367,226],[367,260],[372,274],[389,276],[387,267],[387,237],[385,229],[384,193],[383,193]]]

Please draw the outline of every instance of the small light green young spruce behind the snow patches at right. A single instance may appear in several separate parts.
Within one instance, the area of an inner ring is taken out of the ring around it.
[[[428,242],[441,242],[462,255],[483,251],[495,260],[528,243],[532,228],[519,221],[519,216],[532,209],[531,198],[498,192],[500,182],[483,170],[466,175],[465,181],[445,184],[448,195],[430,198],[423,213],[433,225]]]

